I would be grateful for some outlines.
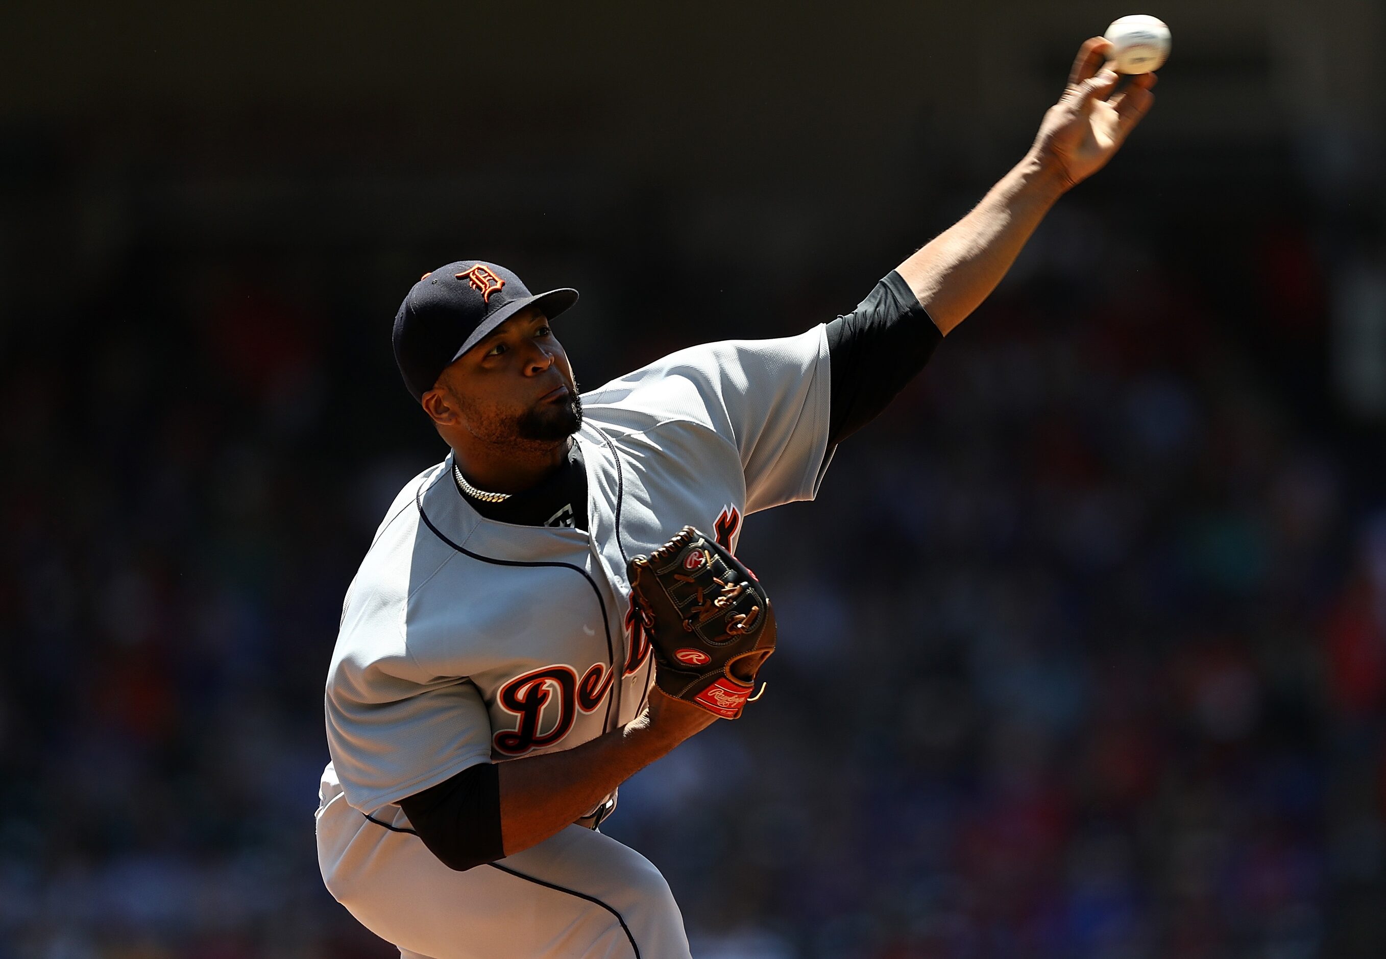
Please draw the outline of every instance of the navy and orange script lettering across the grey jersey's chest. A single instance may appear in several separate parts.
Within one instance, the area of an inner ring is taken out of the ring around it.
[[[719,546],[732,550],[732,538],[742,525],[742,514],[728,506],[712,524]],[[621,678],[635,675],[650,658],[650,635],[633,600],[625,614],[626,657]],[[556,664],[516,676],[496,696],[500,708],[516,716],[514,729],[503,729],[491,737],[496,753],[524,755],[529,750],[553,746],[572,732],[577,711],[592,712],[611,692],[615,671],[604,662],[593,662],[582,678],[570,665]]]

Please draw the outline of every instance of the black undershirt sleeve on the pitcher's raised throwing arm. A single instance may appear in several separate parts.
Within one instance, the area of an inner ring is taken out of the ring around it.
[[[870,423],[942,340],[904,277],[891,270],[857,309],[827,324],[832,414],[827,448]]]

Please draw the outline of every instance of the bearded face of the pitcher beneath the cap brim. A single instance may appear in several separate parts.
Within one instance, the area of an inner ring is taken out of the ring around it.
[[[439,377],[460,425],[489,443],[553,443],[582,423],[568,355],[539,310],[520,310]]]

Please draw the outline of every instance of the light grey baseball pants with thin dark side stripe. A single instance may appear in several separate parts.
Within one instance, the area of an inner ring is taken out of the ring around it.
[[[493,863],[456,872],[423,841],[370,822],[323,772],[317,865],[333,897],[405,959],[687,959],[683,916],[649,859],[568,826]],[[398,805],[374,813],[407,829]]]

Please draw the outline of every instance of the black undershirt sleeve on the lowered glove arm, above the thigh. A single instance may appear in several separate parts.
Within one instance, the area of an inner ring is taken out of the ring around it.
[[[449,869],[471,869],[503,858],[500,773],[482,762],[399,801],[428,851]]]

